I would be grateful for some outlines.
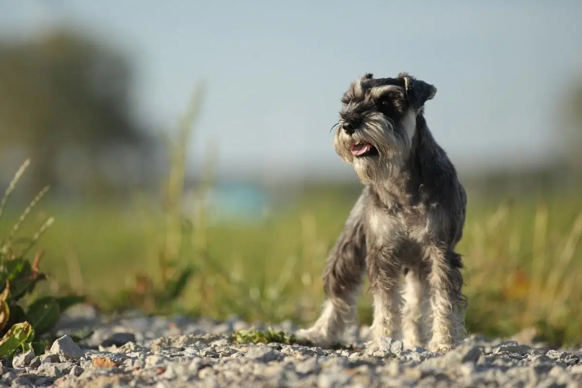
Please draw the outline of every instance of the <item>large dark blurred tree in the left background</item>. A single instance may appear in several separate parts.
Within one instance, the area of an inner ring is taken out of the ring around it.
[[[125,56],[77,33],[0,42],[0,152],[30,156],[37,184],[140,180],[157,143],[132,119],[131,86]]]

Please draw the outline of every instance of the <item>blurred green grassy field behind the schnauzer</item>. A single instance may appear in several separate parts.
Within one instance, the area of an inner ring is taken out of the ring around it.
[[[252,223],[211,224],[186,214],[182,233],[168,241],[172,219],[151,204],[45,206],[56,222],[41,240],[42,269],[54,278],[52,291],[87,294],[107,311],[306,323],[317,317],[327,251],[358,193],[358,186],[304,188]],[[547,193],[519,201],[469,198],[459,251],[471,332],[509,335],[535,326],[552,343],[580,343],[582,200]],[[163,287],[161,262],[172,266],[172,259],[161,252],[168,249],[175,251],[176,271],[191,265],[194,273],[183,297],[164,305],[148,293]],[[370,322],[365,293],[360,317]]]

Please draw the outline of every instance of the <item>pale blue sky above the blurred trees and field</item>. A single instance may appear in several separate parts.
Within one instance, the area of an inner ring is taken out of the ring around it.
[[[427,120],[460,170],[540,162],[582,77],[580,1],[0,0],[0,34],[55,22],[127,49],[136,111],[176,123],[208,85],[190,148],[218,142],[218,171],[353,179],[329,128],[350,81],[407,70],[438,88]]]

